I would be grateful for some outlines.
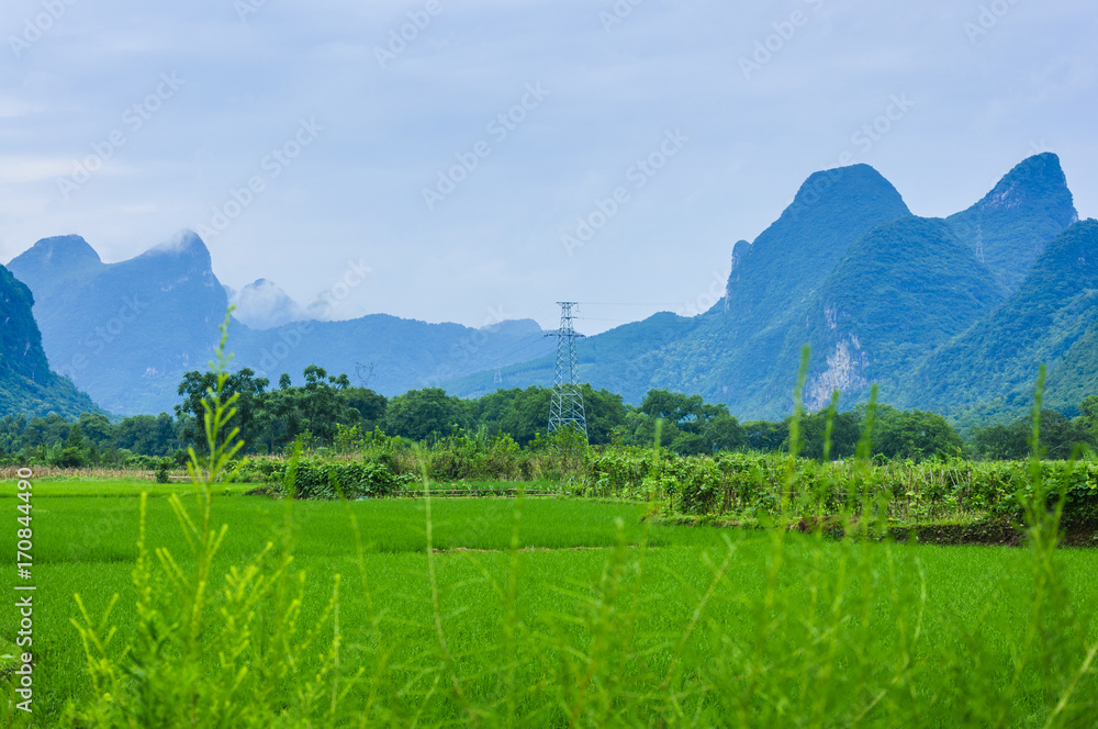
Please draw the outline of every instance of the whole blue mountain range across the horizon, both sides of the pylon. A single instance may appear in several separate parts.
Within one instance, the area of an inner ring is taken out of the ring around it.
[[[581,377],[628,402],[665,388],[775,418],[792,410],[808,344],[810,408],[833,390],[864,401],[879,383],[895,405],[1004,413],[1030,396],[1041,361],[1050,402],[1071,406],[1098,393],[1095,225],[1078,222],[1052,154],[944,220],[914,215],[866,165],[817,172],[753,243],[732,246],[716,305],[583,339]],[[389,395],[552,383],[553,344],[534,322],[314,321],[270,281],[226,292],[189,232],[111,265],[78,236],[47,238],[10,266],[38,301],[49,361],[117,413],[170,408],[182,372],[205,366],[231,296],[235,363],[272,381],[315,363]]]

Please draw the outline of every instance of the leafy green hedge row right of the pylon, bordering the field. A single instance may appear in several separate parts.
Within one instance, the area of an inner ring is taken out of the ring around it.
[[[1098,515],[1098,463],[1045,461],[1040,479],[1050,498],[1066,496],[1065,515]],[[1029,463],[910,462],[870,464],[792,461],[780,456],[722,453],[679,457],[607,451],[590,460],[579,493],[665,498],[687,515],[819,516],[863,503],[885,504],[888,516],[926,519],[979,512],[1019,515],[1033,495]]]

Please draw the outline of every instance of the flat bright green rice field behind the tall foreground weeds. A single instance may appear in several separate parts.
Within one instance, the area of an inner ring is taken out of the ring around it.
[[[1093,550],[650,526],[647,505],[624,502],[281,502],[247,489],[213,496],[211,527],[226,531],[201,640],[216,654],[219,606],[232,603],[217,592],[223,575],[249,564],[269,574],[292,553],[299,632],[317,635],[269,686],[267,726],[305,726],[295,711],[316,676],[332,696],[307,709],[310,726],[1012,727],[1098,716]],[[192,570],[168,497],[198,515],[191,484],[35,484],[30,726],[64,725],[66,705],[102,698],[75,595],[93,623],[117,595],[108,652],[125,665],[121,649],[141,624],[143,492],[147,547]],[[12,484],[0,486],[4,554],[15,551],[16,503]],[[257,562],[268,546],[274,557]],[[264,615],[250,630],[277,623]],[[0,610],[0,639],[16,628],[18,614]],[[222,663],[255,666],[259,642]]]

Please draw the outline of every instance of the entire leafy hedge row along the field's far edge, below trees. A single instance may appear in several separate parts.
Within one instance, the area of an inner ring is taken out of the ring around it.
[[[508,459],[509,456],[509,459]],[[535,467],[535,468],[530,468]],[[281,486],[289,463],[260,460],[246,478]],[[435,452],[384,450],[357,460],[316,456],[298,463],[291,484],[298,498],[386,496],[432,480],[557,481],[578,495],[659,500],[670,511],[693,516],[819,517],[858,514],[872,503],[899,520],[948,518],[961,513],[1018,516],[1032,496],[1026,461],[865,463],[793,461],[778,455],[675,456],[640,448],[582,449],[567,453],[507,453],[505,449],[445,448]],[[1043,491],[1067,497],[1068,518],[1098,516],[1098,463],[1045,461]]]

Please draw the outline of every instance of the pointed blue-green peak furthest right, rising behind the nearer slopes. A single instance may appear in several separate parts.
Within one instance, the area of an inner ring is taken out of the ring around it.
[[[1020,162],[949,223],[1011,294],[1045,245],[1078,220],[1060,157],[1045,153]]]

